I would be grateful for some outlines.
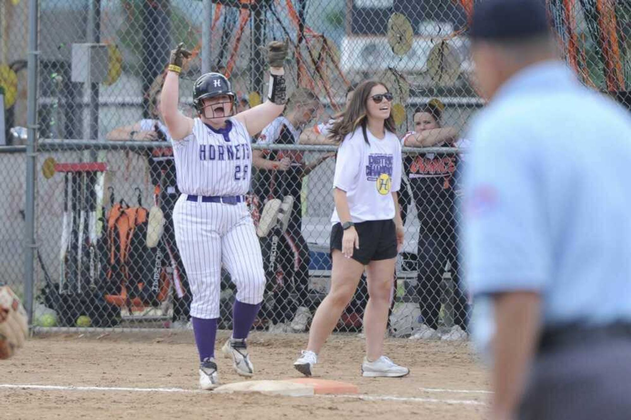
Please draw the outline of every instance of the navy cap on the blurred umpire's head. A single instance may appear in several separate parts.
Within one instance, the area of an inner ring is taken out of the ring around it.
[[[469,37],[517,40],[550,33],[545,0],[478,0]]]

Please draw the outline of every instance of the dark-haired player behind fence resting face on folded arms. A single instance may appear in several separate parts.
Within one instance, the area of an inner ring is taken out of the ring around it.
[[[401,143],[408,147],[457,146],[458,131],[442,127],[444,104],[430,100],[414,111],[414,129]],[[468,304],[460,281],[456,218],[454,217],[454,173],[458,156],[446,153],[421,153],[407,156],[404,172],[408,175],[416,203],[418,232],[418,295],[423,324],[413,339],[438,338],[440,283],[445,265],[449,264],[454,283],[454,325],[443,339],[466,338]]]

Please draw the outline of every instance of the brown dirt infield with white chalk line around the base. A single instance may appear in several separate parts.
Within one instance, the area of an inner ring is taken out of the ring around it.
[[[227,336],[218,334],[217,351]],[[249,341],[255,378],[298,377],[292,363],[306,339],[253,333]],[[358,396],[213,395],[197,390],[190,331],[37,335],[15,358],[0,362],[0,418],[483,417],[487,377],[466,344],[389,339],[386,354],[409,366],[411,374],[362,378],[363,340],[351,335],[329,340],[315,375],[355,383]],[[220,358],[218,364],[222,383],[242,380],[228,359]]]

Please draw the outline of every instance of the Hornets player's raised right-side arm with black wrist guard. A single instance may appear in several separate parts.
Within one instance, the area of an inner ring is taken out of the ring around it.
[[[271,41],[268,44],[269,62],[269,93],[268,100],[247,111],[237,114],[235,117],[247,128],[248,133],[254,136],[266,125],[271,123],[285,109],[287,93],[285,85],[285,69],[283,62],[287,57],[288,42]]]

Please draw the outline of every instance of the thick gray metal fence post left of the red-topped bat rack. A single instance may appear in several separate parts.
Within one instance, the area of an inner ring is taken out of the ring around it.
[[[37,159],[38,1],[28,1],[27,185],[25,197],[24,305],[32,324],[35,284],[35,163]]]

